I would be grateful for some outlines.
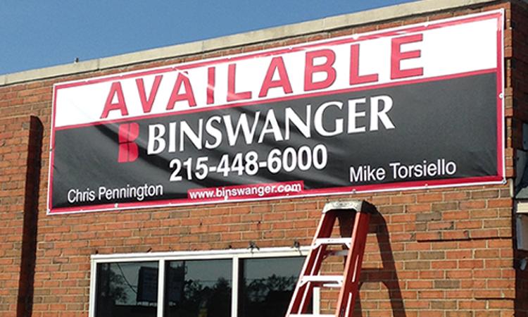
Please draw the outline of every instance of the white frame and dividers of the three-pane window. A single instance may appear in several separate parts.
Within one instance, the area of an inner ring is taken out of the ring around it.
[[[130,254],[92,254],[90,256],[90,290],[89,290],[89,317],[95,317],[96,301],[96,275],[97,265],[100,263],[123,263],[151,261],[158,263],[158,302],[156,307],[156,317],[163,317],[165,306],[165,263],[167,261],[191,261],[191,260],[213,260],[230,259],[232,261],[232,297],[231,297],[231,317],[238,317],[238,292],[239,292],[239,260],[258,258],[281,258],[289,256],[307,256],[309,247],[272,247],[260,249],[227,249],[227,250],[206,250],[206,251],[170,251],[170,252],[149,252]],[[318,292],[315,292],[318,293]],[[318,295],[318,294],[314,294]],[[318,311],[314,297],[314,312]]]

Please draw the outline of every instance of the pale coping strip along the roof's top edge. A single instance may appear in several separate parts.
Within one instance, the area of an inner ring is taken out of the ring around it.
[[[32,80],[60,77],[64,75],[75,75],[96,70],[105,70],[137,63],[146,63],[149,61],[157,61],[163,58],[175,58],[178,56],[201,54],[208,51],[228,49],[234,46],[268,42],[277,39],[284,39],[287,37],[308,35],[315,32],[330,31],[343,27],[353,27],[368,23],[376,23],[384,20],[405,18],[412,15],[432,13],[435,11],[445,11],[454,8],[462,8],[499,1],[500,0],[422,0],[408,2],[406,4],[398,4],[356,13],[336,15],[319,20],[310,20],[279,27],[270,27],[263,30],[227,35],[224,37],[216,37],[203,41],[164,46],[161,48],[147,49],[134,53],[120,54],[104,58],[96,58],[88,61],[68,63],[58,66],[37,68],[18,73],[0,75],[0,86],[13,85],[21,82],[29,82]],[[522,1],[528,2],[528,0]]]

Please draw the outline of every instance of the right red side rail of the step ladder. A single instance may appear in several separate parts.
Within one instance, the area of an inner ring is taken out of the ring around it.
[[[370,214],[358,212],[352,231],[351,253],[346,259],[344,285],[341,288],[336,307],[337,317],[351,317],[358,297],[359,275],[367,241]]]

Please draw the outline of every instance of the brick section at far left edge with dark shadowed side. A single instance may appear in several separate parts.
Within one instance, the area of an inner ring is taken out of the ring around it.
[[[42,124],[36,117],[0,119],[2,317],[31,311],[41,146]]]

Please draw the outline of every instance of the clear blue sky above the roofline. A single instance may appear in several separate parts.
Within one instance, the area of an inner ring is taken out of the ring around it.
[[[0,75],[410,0],[1,0]]]

